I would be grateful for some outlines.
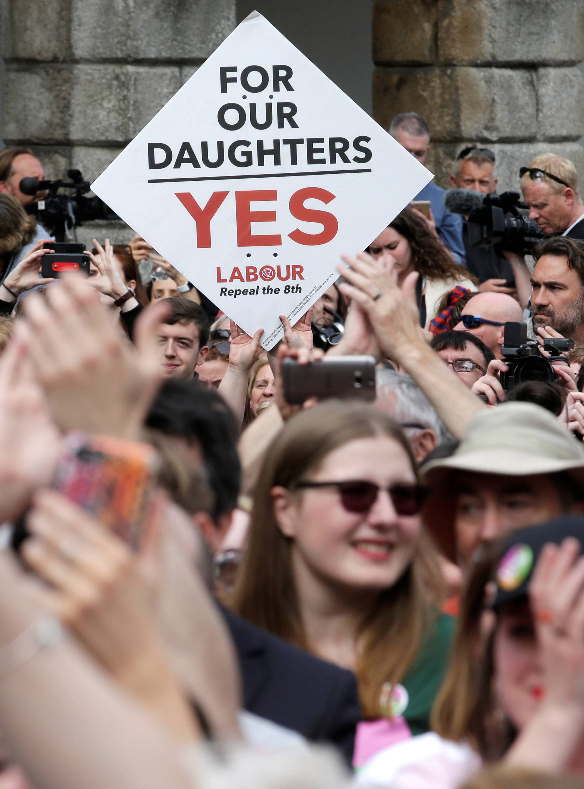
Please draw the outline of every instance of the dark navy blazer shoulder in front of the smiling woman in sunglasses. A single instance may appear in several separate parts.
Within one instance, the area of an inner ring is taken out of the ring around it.
[[[350,764],[361,718],[352,671],[222,610],[238,654],[245,709],[312,742],[331,743]]]

